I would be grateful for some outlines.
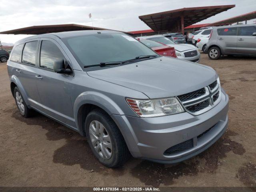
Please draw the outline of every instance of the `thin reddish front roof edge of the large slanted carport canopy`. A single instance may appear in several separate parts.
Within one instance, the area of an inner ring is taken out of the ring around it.
[[[180,11],[186,11],[186,10],[198,10],[198,9],[206,9],[206,8],[234,8],[236,5],[218,5],[218,6],[204,6],[204,7],[189,7],[189,8],[181,8],[181,9],[175,9],[175,10],[170,10],[170,11],[164,11],[164,12],[158,12],[158,13],[152,13],[152,14],[147,14],[147,15],[142,15],[139,16],[140,20],[146,17],[150,16],[155,16],[155,15],[160,15],[160,14],[168,14],[168,13],[174,13],[174,12],[180,12]]]

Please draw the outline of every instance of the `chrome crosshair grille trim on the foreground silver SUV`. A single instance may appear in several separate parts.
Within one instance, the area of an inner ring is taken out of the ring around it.
[[[217,79],[216,86],[212,90],[210,89],[209,85],[204,87],[204,88],[205,88],[206,92],[205,92],[204,95],[202,95],[200,97],[193,98],[191,100],[186,100],[186,101],[183,101],[183,102],[181,100],[179,100],[182,103],[186,112],[189,112],[190,114],[193,114],[193,115],[200,115],[200,114],[210,110],[211,108],[213,108],[214,106],[216,106],[220,102],[220,100],[221,100],[221,89],[220,89],[220,80],[219,80],[219,78]],[[218,98],[214,101],[213,97],[217,94],[218,94]],[[179,96],[177,96],[177,98],[179,99]],[[188,107],[198,105],[202,102],[205,102],[206,100],[208,100],[209,106],[203,108],[202,110],[198,110],[198,111],[195,111],[195,112],[192,112],[192,111],[189,110]]]

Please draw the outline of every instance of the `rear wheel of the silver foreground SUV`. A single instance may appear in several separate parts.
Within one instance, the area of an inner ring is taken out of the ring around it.
[[[30,117],[32,115],[32,109],[27,107],[27,104],[24,101],[24,98],[20,93],[20,90],[18,89],[18,87],[14,88],[14,98],[15,98],[17,108],[20,111],[20,114],[24,117]]]

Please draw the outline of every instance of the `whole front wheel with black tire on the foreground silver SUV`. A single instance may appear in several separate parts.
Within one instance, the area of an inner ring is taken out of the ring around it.
[[[85,132],[93,154],[103,165],[119,167],[130,157],[120,130],[104,110],[95,109],[88,114]]]

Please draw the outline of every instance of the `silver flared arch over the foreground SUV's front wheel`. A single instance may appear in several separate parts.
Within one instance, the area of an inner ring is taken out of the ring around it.
[[[76,122],[76,127],[79,129],[79,132],[82,132],[81,126],[79,126],[78,122],[78,112],[81,106],[84,104],[93,104],[96,105],[103,110],[105,110],[109,115],[117,114],[123,115],[124,112],[122,109],[108,96],[94,91],[88,91],[81,93],[74,102],[74,118]]]

